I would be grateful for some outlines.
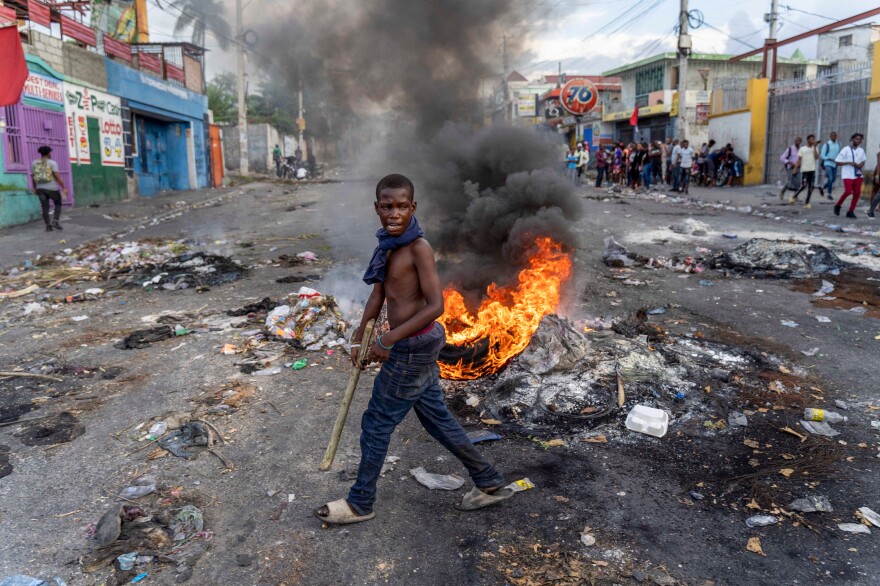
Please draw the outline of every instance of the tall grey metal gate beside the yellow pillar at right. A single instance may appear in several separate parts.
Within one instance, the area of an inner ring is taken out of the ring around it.
[[[870,64],[859,64],[815,78],[772,84],[767,114],[764,182],[783,181],[785,172],[779,157],[796,136],[800,136],[805,145],[807,135],[815,134],[821,148],[831,131],[837,132],[841,147],[849,142],[852,134],[867,134],[870,92]],[[819,180],[818,177],[816,179]]]

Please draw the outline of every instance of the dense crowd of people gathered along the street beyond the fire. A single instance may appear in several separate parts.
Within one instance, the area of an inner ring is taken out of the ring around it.
[[[687,140],[632,142],[601,146],[596,150],[596,187],[605,184],[645,191],[654,189],[687,193],[691,182],[705,187],[733,186],[741,182],[743,161],[733,145],[714,148],[715,141],[703,143],[699,150]],[[566,151],[569,179],[583,182],[590,150],[578,143]]]

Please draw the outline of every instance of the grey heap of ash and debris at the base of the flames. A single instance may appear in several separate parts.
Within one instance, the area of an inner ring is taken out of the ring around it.
[[[636,405],[702,425],[718,416],[714,403],[738,393],[751,377],[757,385],[759,371],[776,368],[773,360],[701,334],[670,337],[644,310],[604,331],[551,314],[498,374],[449,384],[464,391],[481,418],[528,433],[589,432],[622,422]]]

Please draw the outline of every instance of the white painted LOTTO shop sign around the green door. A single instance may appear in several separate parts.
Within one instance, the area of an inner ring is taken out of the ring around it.
[[[122,107],[119,98],[87,87],[64,82],[64,113],[67,117],[67,138],[70,162],[93,163],[89,149],[88,118],[98,120],[101,142],[101,164],[125,166],[122,146]]]

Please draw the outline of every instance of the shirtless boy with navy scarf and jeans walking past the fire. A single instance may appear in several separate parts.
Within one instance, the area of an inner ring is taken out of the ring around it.
[[[382,228],[376,232],[379,246],[364,274],[373,291],[354,335],[361,339],[366,323],[379,316],[388,302],[391,329],[370,346],[367,363],[382,369],[373,383],[373,394],[361,419],[361,462],[357,480],[347,499],[327,503],[315,514],[327,523],[348,524],[376,516],[376,482],[388,452],[388,442],[410,409],[431,436],[452,452],[467,468],[475,487],[458,506],[475,510],[510,498],[504,478],[473,446],[449,412],[440,388],[437,357],[446,344],[446,332],[437,323],[443,315],[443,293],[434,265],[434,251],[423,238],[415,218],[415,188],[403,175],[388,175],[376,185],[376,214]],[[351,350],[357,362],[359,348]]]

